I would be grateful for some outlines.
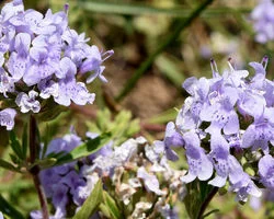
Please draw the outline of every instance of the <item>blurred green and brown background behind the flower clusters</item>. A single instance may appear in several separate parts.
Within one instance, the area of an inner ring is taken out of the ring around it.
[[[215,0],[192,19],[195,9],[204,1],[24,1],[25,9],[43,13],[48,8],[57,12],[66,2],[70,5],[70,27],[78,33],[85,32],[85,36],[91,38],[90,44],[102,50],[114,49],[115,54],[104,62],[109,83],[102,84],[96,80],[90,84],[89,90],[96,93],[95,104],[72,105],[69,112],[62,113],[48,125],[55,136],[68,132],[70,125],[83,136],[91,126],[85,122],[93,123],[98,112],[109,108],[111,117],[122,110],[130,111],[132,117],[140,122],[137,135],[145,135],[149,140],[161,139],[165,124],[175,119],[174,107],[180,108],[187,96],[182,82],[192,76],[210,77],[210,58],[216,60],[220,72],[228,68],[228,58],[232,58],[236,69],[247,68],[252,72],[248,64],[260,61],[267,55],[267,78],[273,79],[274,44],[254,42],[250,19],[250,12],[256,4],[254,0]],[[185,26],[179,30],[182,23]],[[170,38],[172,41],[167,43]],[[41,128],[46,130],[45,127]],[[4,134],[1,135],[3,142]],[[0,154],[8,157],[9,149],[3,148]],[[0,170],[0,194],[24,215],[38,209],[37,197],[27,176]],[[233,195],[217,196],[210,208],[218,208],[219,212],[208,218],[265,218],[265,206],[254,211],[248,204],[237,205],[233,198]]]

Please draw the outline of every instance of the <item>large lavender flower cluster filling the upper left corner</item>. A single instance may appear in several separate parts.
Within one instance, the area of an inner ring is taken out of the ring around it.
[[[53,99],[69,106],[91,104],[95,94],[85,83],[102,74],[102,62],[113,50],[101,53],[87,44],[84,33],[68,26],[68,5],[65,10],[45,15],[24,10],[22,0],[4,4],[0,13],[0,99],[14,100],[22,113],[38,113],[42,101]],[[84,78],[85,82],[78,81]],[[0,125],[10,130],[15,111],[0,112]]]

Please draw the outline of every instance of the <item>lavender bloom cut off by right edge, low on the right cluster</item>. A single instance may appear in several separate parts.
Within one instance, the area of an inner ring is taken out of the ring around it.
[[[270,154],[264,155],[259,161],[259,174],[261,183],[270,189],[274,188],[274,158]]]

